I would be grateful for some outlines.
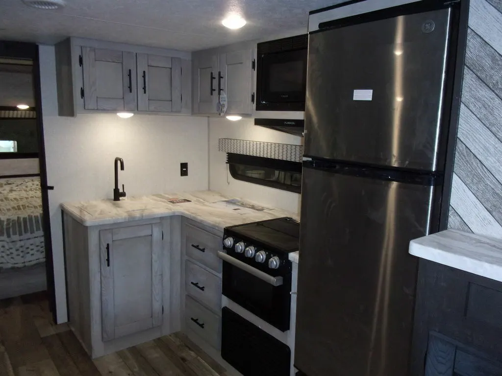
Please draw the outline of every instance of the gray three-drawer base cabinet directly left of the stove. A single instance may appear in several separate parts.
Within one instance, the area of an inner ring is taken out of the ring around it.
[[[185,220],[182,225],[182,327],[215,350],[221,342],[221,249],[223,234]],[[207,352],[207,347],[202,346]]]

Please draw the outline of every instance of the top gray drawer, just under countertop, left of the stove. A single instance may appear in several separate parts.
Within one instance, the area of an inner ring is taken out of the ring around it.
[[[185,252],[188,257],[221,273],[221,260],[218,250],[222,248],[222,239],[191,225],[185,225]]]

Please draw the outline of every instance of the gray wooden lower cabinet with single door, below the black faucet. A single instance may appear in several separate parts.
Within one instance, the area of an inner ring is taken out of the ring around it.
[[[176,330],[169,217],[86,227],[64,214],[63,222],[69,325],[93,358]]]

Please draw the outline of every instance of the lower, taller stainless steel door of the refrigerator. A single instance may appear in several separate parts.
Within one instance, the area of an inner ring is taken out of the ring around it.
[[[439,188],[304,168],[295,366],[406,376],[418,262]]]

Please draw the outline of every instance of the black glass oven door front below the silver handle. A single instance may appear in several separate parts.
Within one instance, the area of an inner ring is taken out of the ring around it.
[[[281,286],[223,262],[223,295],[282,331],[289,329],[291,273]]]

